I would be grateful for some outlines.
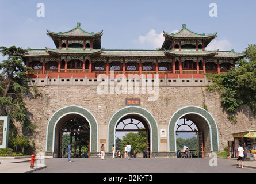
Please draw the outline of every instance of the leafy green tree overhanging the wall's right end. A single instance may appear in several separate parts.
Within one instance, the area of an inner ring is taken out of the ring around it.
[[[241,105],[249,105],[256,114],[256,44],[248,45],[247,57],[236,62],[236,68],[232,67],[225,74],[207,74],[212,79],[212,85],[208,85],[208,91],[218,91],[221,104],[228,112],[236,112]]]

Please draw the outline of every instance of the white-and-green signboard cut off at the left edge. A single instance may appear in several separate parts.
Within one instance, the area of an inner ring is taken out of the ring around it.
[[[0,116],[0,148],[8,147],[9,123],[9,117]]]

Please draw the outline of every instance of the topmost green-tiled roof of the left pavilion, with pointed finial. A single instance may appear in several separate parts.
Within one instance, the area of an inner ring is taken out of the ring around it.
[[[51,32],[51,31],[47,30],[47,33],[50,36],[56,36],[56,37],[93,37],[93,36],[101,36],[102,35],[103,30],[101,30],[98,33],[93,33],[93,32],[89,33],[89,32],[86,32],[85,30],[83,30],[80,26],[81,26],[81,24],[77,23],[77,27],[68,32],[55,33],[55,32]]]

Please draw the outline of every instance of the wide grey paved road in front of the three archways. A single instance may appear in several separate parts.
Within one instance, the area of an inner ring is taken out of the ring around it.
[[[213,160],[215,159],[215,160]],[[67,158],[45,159],[46,168],[36,173],[256,173],[254,168],[235,166],[223,158]],[[256,162],[245,161],[253,163]],[[211,166],[212,165],[212,166]]]

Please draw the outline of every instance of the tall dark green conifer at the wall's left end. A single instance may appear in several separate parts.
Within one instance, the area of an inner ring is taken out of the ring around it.
[[[32,70],[24,66],[20,56],[26,50],[12,46],[0,47],[0,52],[7,56],[7,60],[0,63],[0,116],[10,116],[21,122],[24,130],[33,131],[36,126],[26,117],[28,109],[23,101],[23,95],[29,91],[26,70]]]

